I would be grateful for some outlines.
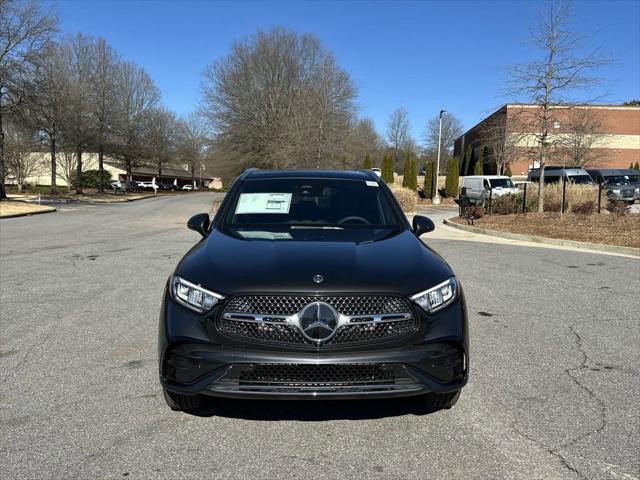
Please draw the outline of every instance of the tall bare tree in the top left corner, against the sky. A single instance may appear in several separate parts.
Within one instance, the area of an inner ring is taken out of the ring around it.
[[[35,0],[0,1],[0,200],[7,198],[3,119],[24,103],[35,65],[56,27],[56,17]]]

